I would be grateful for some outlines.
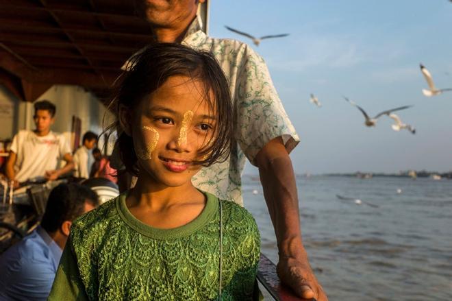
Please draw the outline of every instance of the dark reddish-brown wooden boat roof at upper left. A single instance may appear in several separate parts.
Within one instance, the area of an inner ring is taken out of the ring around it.
[[[34,101],[53,84],[105,95],[151,29],[131,0],[0,0],[0,84]]]

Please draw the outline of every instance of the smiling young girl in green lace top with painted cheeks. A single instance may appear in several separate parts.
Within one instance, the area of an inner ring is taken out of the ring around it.
[[[208,53],[149,47],[123,75],[118,143],[134,189],[71,228],[49,300],[249,300],[258,228],[191,178],[224,160],[234,114]]]

